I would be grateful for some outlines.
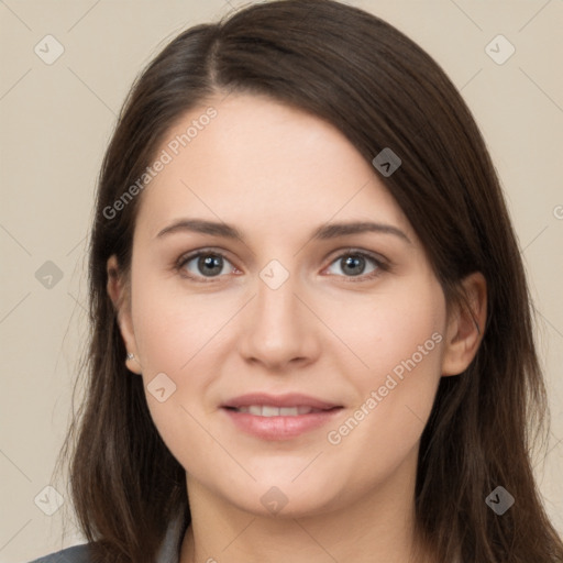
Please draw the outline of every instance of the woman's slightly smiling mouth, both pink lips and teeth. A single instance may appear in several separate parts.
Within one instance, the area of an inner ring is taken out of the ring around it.
[[[234,427],[262,440],[289,440],[318,429],[344,407],[314,397],[252,394],[221,406]]]

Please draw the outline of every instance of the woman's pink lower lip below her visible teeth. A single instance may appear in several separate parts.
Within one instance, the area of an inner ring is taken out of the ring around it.
[[[257,417],[249,412],[222,409],[243,432],[262,440],[288,440],[330,422],[342,408],[296,417]]]

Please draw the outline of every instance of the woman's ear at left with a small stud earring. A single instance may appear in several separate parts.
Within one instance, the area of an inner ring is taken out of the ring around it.
[[[113,254],[108,260],[108,295],[110,296],[113,308],[118,316],[118,324],[125,344],[128,354],[133,354],[133,358],[125,357],[124,362],[128,369],[141,375],[141,364],[137,360],[137,350],[133,322],[131,319],[131,303],[129,300],[128,288],[123,274],[119,269],[118,258]]]

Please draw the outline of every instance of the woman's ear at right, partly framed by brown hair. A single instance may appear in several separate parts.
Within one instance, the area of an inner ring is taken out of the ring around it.
[[[487,283],[481,272],[475,272],[462,280],[462,290],[467,307],[452,306],[448,318],[448,329],[442,357],[442,375],[463,373],[483,340],[487,319]]]

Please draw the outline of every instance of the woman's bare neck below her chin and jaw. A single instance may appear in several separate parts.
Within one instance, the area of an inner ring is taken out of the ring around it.
[[[426,563],[429,550],[415,537],[415,470],[416,460],[404,463],[340,509],[275,517],[241,510],[188,476],[192,525],[180,563]]]

